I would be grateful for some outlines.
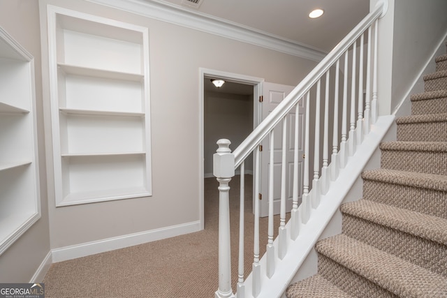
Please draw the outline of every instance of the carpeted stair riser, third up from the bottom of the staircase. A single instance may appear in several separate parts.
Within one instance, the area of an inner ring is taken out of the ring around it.
[[[447,219],[447,193],[365,179],[363,198]]]

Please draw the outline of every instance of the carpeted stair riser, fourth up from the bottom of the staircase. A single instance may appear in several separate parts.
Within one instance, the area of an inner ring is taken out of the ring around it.
[[[447,152],[381,151],[383,169],[447,175]]]

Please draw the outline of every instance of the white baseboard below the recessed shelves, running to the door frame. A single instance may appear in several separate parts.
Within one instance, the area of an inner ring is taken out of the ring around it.
[[[113,237],[98,241],[91,241],[84,244],[65,246],[52,249],[52,262],[61,262],[75,258],[104,253],[119,248],[125,248],[138,244],[144,244],[151,241],[166,239],[200,231],[200,221],[184,223],[182,225],[173,225],[167,228],[127,234],[124,236]]]

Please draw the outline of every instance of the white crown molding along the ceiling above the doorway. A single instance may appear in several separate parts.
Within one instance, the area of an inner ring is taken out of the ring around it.
[[[290,54],[296,57],[321,61],[327,53],[314,47],[297,43],[294,40],[275,36],[264,31],[229,22],[211,15],[188,10],[159,0],[86,0],[91,3],[117,8],[154,20],[212,33],[243,43],[265,47],[269,50]]]

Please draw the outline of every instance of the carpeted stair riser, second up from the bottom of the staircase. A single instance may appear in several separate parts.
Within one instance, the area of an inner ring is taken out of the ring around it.
[[[447,277],[447,246],[343,214],[343,233]]]

